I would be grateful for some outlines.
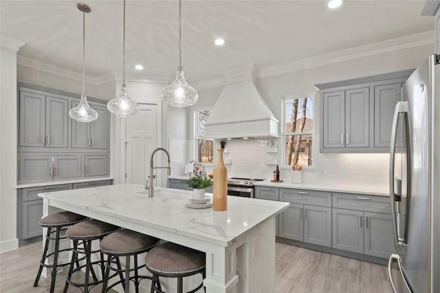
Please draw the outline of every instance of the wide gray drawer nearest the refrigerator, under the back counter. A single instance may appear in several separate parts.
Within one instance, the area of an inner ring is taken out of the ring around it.
[[[391,213],[390,198],[388,196],[366,196],[364,194],[334,192],[333,207],[375,213]]]

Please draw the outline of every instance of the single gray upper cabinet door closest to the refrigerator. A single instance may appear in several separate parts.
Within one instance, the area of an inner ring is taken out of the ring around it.
[[[401,99],[401,83],[374,87],[374,147],[390,148],[394,108]]]

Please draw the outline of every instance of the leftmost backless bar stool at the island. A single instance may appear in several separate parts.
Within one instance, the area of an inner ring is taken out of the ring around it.
[[[54,292],[56,272],[59,268],[63,266],[67,266],[70,263],[61,263],[58,264],[58,255],[63,251],[71,250],[71,248],[65,248],[60,250],[60,239],[66,239],[67,237],[61,237],[61,231],[65,231],[67,226],[72,226],[78,222],[86,220],[87,217],[83,215],[78,215],[77,213],[72,213],[70,211],[62,211],[60,213],[53,213],[52,215],[47,215],[40,220],[40,225],[43,228],[47,228],[46,233],[46,242],[43,249],[43,257],[41,257],[39,272],[36,274],[34,287],[39,285],[41,272],[43,268],[49,268],[52,271],[52,281],[50,283],[50,292]],[[55,231],[52,229],[55,228]],[[55,237],[52,234],[55,233]],[[55,240],[55,249],[53,253],[47,254],[47,250],[49,248],[50,240]],[[45,261],[47,257],[54,256],[54,263],[46,264]],[[77,263],[78,266],[78,263]]]

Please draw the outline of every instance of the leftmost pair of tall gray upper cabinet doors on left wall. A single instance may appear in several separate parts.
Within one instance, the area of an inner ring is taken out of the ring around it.
[[[20,91],[19,145],[67,148],[68,99]]]

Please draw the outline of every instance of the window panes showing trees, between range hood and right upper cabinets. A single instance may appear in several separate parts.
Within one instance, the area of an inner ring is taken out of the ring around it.
[[[314,134],[314,98],[312,95],[285,98],[285,164],[309,166],[312,164]]]

